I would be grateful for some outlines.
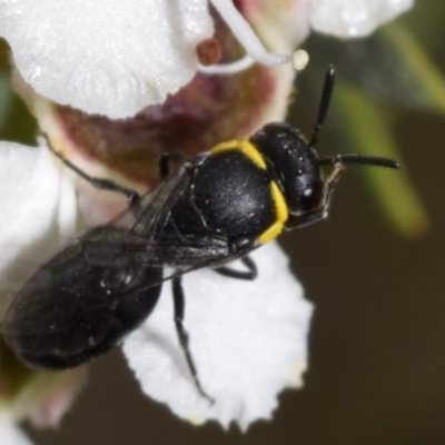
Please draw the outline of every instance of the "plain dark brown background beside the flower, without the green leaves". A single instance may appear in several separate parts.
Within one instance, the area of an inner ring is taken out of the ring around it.
[[[418,1],[402,21],[445,71],[445,4]],[[329,53],[316,57],[324,66],[336,62]],[[310,67],[300,76],[289,119],[306,132],[318,106],[308,92]],[[335,152],[339,144],[334,127],[332,119],[322,152]],[[360,172],[348,171],[327,222],[280,238],[316,310],[306,384],[280,396],[271,422],[256,423],[247,434],[214,423],[190,426],[142,396],[115,352],[91,366],[90,384],[60,431],[30,431],[36,444],[445,444],[444,117],[398,108],[393,131],[431,229],[417,240],[393,231]]]

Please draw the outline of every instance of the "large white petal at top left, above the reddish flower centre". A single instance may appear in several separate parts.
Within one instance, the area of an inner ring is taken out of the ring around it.
[[[214,28],[207,0],[0,0],[0,32],[39,93],[126,118],[192,78]]]

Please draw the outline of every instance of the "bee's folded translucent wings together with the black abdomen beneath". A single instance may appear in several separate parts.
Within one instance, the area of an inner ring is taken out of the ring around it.
[[[188,181],[180,169],[109,225],[72,241],[28,280],[1,325],[6,342],[26,363],[59,369],[103,354],[147,318],[162,281],[227,259],[224,238],[190,245],[162,234]],[[162,277],[166,265],[176,268],[174,275]]]

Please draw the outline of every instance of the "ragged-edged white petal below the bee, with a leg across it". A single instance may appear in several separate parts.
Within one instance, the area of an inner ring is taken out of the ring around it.
[[[184,277],[190,350],[214,405],[190,378],[176,337],[168,284],[145,325],[125,342],[142,390],[192,423],[217,419],[227,427],[237,422],[246,429],[254,421],[271,417],[280,390],[301,385],[312,305],[303,299],[276,244],[253,257],[259,271],[255,281],[208,269]]]

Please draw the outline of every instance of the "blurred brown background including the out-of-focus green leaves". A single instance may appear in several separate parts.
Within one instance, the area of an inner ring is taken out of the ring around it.
[[[280,238],[316,310],[306,385],[280,396],[273,422],[247,434],[192,427],[142,396],[115,352],[91,366],[60,431],[29,429],[36,444],[445,444],[444,42],[445,2],[422,0],[370,40],[313,34],[304,46],[312,59],[289,121],[310,135],[333,62],[320,154],[369,145],[404,169],[348,168],[329,220]],[[1,138],[30,142],[24,107],[4,100]]]

